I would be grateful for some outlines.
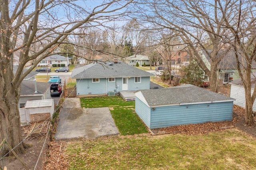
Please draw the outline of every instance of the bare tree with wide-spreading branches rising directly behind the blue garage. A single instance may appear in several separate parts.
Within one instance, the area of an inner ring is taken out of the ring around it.
[[[227,8],[232,8],[228,2],[223,3],[227,4]],[[209,76],[210,89],[215,92],[218,92],[217,65],[220,61],[218,51],[226,42],[219,35],[228,34],[228,28],[222,27],[221,23],[225,18],[218,5],[217,0],[143,0],[135,7],[138,9],[140,22],[151,23],[152,29],[167,29],[180,36]],[[200,50],[207,49],[202,42],[206,37],[213,47],[211,53],[207,52],[211,59],[210,69],[202,60],[200,53]]]

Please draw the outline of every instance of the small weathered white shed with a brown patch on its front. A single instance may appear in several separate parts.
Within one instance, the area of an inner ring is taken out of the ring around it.
[[[25,111],[27,121],[31,123],[45,121],[49,117],[51,119],[54,113],[54,99],[27,101]]]

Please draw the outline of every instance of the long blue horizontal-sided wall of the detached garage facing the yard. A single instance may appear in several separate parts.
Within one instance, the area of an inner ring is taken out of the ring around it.
[[[232,110],[233,102],[156,107],[150,110],[150,128],[231,121]]]

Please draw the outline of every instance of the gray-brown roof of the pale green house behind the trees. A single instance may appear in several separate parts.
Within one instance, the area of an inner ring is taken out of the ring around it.
[[[209,53],[212,52],[212,50],[207,50]],[[202,53],[206,57],[209,63],[211,63],[210,57],[207,55],[206,51],[202,50]],[[236,65],[236,55],[234,50],[228,51],[228,53],[225,53],[225,50],[220,50],[218,52],[218,57],[221,57],[221,61],[218,63],[218,69],[237,69]],[[239,56],[239,60],[241,60],[242,56]],[[256,68],[256,62],[252,62],[252,68]]]

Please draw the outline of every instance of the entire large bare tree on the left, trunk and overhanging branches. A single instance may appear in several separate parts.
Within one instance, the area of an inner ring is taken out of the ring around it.
[[[26,147],[22,142],[18,100],[24,77],[48,55],[61,53],[55,49],[78,28],[104,26],[124,15],[120,9],[131,1],[103,1],[92,8],[86,2],[73,0],[2,0],[0,3],[0,141],[4,138],[20,153]],[[60,11],[58,11],[58,9]],[[118,12],[118,15],[117,15]],[[37,51],[33,45],[42,44]],[[13,53],[19,52],[19,66],[13,72]],[[23,73],[26,63],[32,67]],[[3,146],[1,156],[8,153]]]

